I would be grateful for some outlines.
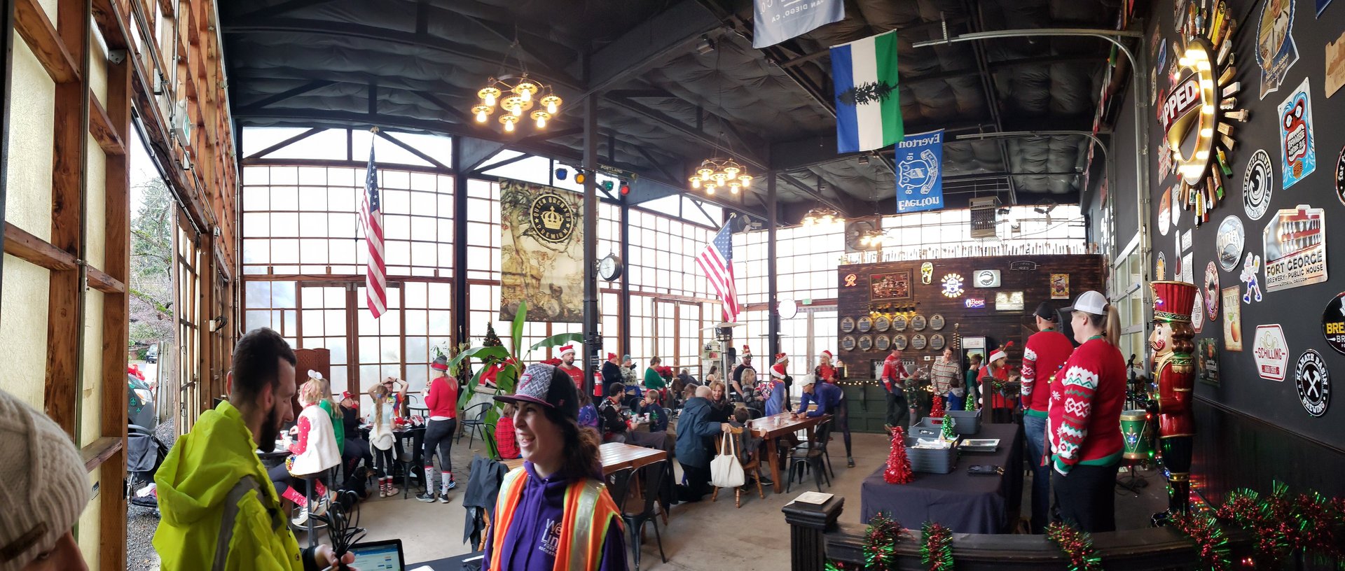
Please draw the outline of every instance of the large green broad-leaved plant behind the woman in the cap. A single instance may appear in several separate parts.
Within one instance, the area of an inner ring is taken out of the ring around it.
[[[527,351],[525,352],[522,351],[522,345],[523,345],[523,325],[526,320],[527,320],[527,302],[519,301],[518,310],[514,312],[514,322],[510,326],[511,344],[508,348],[504,348],[504,345],[499,343],[499,339],[492,335],[495,332],[494,326],[488,326],[486,341],[482,345],[468,348],[465,347],[467,344],[464,343],[459,347],[455,355],[452,355],[452,359],[449,359],[448,361],[448,369],[449,374],[456,376],[459,380],[467,376],[468,371],[471,371],[471,363],[472,363],[471,359],[476,359],[480,361],[480,367],[476,368],[475,374],[471,374],[471,379],[467,382],[467,390],[459,391],[461,392],[461,395],[459,396],[459,406],[463,406],[472,399],[472,395],[476,394],[476,387],[479,387],[482,383],[482,375],[484,375],[491,368],[499,367],[499,371],[495,374],[496,394],[512,395],[514,387],[518,383],[518,378],[519,375],[523,374],[523,369],[527,367],[526,363],[529,361],[529,356],[533,353],[533,351],[546,347],[564,345],[566,343],[580,343],[584,340],[582,333],[553,335],[541,341],[537,341],[535,344],[533,344],[533,347],[529,347]],[[486,423],[490,426],[495,426],[495,422],[499,421],[503,410],[504,406],[499,402],[495,402],[494,406],[491,406],[486,411]],[[499,455],[498,451],[495,450],[495,442],[487,439],[486,446],[490,449],[491,455],[495,457]]]

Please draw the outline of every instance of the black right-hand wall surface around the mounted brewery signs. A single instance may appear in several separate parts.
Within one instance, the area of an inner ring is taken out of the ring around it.
[[[1237,19],[1233,36],[1236,59],[1236,81],[1241,91],[1236,95],[1237,107],[1248,109],[1247,122],[1233,122],[1236,148],[1229,156],[1232,176],[1224,177],[1225,196],[1210,211],[1209,222],[1200,227],[1194,224],[1192,211],[1173,208],[1173,224],[1166,234],[1159,216],[1159,200],[1165,189],[1178,181],[1178,175],[1163,175],[1158,169],[1158,152],[1162,138],[1157,112],[1162,109],[1162,97],[1171,89],[1167,70],[1157,73],[1159,98],[1150,107],[1149,167],[1153,197],[1153,218],[1150,228],[1154,246],[1154,259],[1158,253],[1166,257],[1167,278],[1173,278],[1178,253],[1178,236],[1192,232],[1194,281],[1204,282],[1205,267],[1217,261],[1217,234],[1220,222],[1227,216],[1237,216],[1245,228],[1245,253],[1262,255],[1259,279],[1266,288],[1266,251],[1262,235],[1268,223],[1276,219],[1276,211],[1307,204],[1325,210],[1326,254],[1330,279],[1322,283],[1305,285],[1278,292],[1264,292],[1263,301],[1239,302],[1241,310],[1243,351],[1223,351],[1219,386],[1196,384],[1197,418],[1201,435],[1197,445],[1196,473],[1205,478],[1205,492],[1216,498],[1231,488],[1254,486],[1267,490],[1271,480],[1287,481],[1295,486],[1317,486],[1326,493],[1345,493],[1345,356],[1333,351],[1322,335],[1322,312],[1337,293],[1345,290],[1345,206],[1336,195],[1336,168],[1345,145],[1345,89],[1332,97],[1325,93],[1326,44],[1337,42],[1345,32],[1345,0],[1329,4],[1321,16],[1315,15],[1315,4],[1321,0],[1295,0],[1291,24],[1291,38],[1298,48],[1298,60],[1284,74],[1276,91],[1260,97],[1262,69],[1258,66],[1258,27],[1264,1],[1232,0],[1229,7]],[[1186,3],[1177,3],[1185,5]],[[1174,54],[1180,35],[1174,30],[1174,3],[1153,4],[1146,31],[1145,50],[1154,43],[1154,34],[1167,43],[1167,62],[1180,56]],[[1345,43],[1345,40],[1341,40]],[[1150,69],[1143,70],[1145,81],[1154,66],[1154,52],[1149,51]],[[1317,152],[1317,169],[1306,175],[1290,188],[1283,188],[1280,167],[1279,105],[1294,93],[1303,78],[1310,85],[1313,146]],[[1130,105],[1130,102],[1127,102]],[[1116,138],[1127,138],[1128,133],[1116,133]],[[1272,195],[1263,216],[1252,220],[1243,206],[1243,177],[1254,152],[1264,149],[1272,164]],[[1122,167],[1120,171],[1126,171]],[[1118,195],[1118,202],[1132,207],[1131,197]],[[1126,236],[1120,236],[1124,238]],[[1219,269],[1221,288],[1239,285],[1241,259],[1232,271]],[[1153,267],[1149,271],[1154,271]],[[1153,277],[1153,274],[1150,274]],[[1245,286],[1241,289],[1245,292]],[[1223,320],[1220,306],[1219,318]],[[1208,320],[1206,320],[1208,321]],[[1279,324],[1283,326],[1289,347],[1289,374],[1283,382],[1262,379],[1254,360],[1254,337],[1258,325]],[[1206,322],[1196,339],[1219,339],[1223,347],[1221,321]],[[1294,363],[1306,349],[1315,349],[1325,359],[1337,395],[1321,416],[1310,416],[1299,403],[1295,387]]]

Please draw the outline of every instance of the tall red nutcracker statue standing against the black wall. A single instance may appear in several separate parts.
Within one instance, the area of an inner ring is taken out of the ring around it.
[[[1196,435],[1192,386],[1196,379],[1192,352],[1194,331],[1190,312],[1198,289],[1186,282],[1153,282],[1154,379],[1158,379],[1158,438],[1167,468],[1167,511],[1154,515],[1158,524],[1190,511],[1190,455]]]

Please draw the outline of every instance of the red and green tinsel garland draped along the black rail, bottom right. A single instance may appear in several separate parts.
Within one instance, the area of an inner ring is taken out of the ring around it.
[[[1239,489],[1219,509],[1171,519],[1171,528],[1194,541],[1202,571],[1235,568],[1224,525],[1255,535],[1252,556],[1239,562],[1237,568],[1282,568],[1293,559],[1293,554],[1301,551],[1319,566],[1345,570],[1345,498],[1326,497],[1317,492],[1295,496],[1289,492],[1287,485],[1274,482],[1271,493],[1264,498],[1255,490]],[[826,570],[896,568],[896,544],[905,535],[908,531],[901,524],[880,512],[869,520],[865,531],[863,566],[827,559]],[[1054,523],[1046,528],[1046,539],[1060,548],[1069,571],[1103,570],[1102,556],[1087,532]],[[920,533],[920,562],[929,571],[951,571],[955,563],[952,531],[927,521]]]

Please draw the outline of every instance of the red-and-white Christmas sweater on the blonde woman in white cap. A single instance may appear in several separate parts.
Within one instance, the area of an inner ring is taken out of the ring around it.
[[[1120,458],[1120,411],[1126,406],[1126,360],[1092,337],[1075,349],[1050,386],[1046,435],[1061,474],[1077,465],[1107,466]]]

